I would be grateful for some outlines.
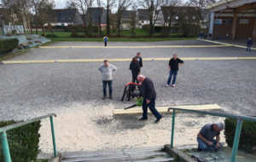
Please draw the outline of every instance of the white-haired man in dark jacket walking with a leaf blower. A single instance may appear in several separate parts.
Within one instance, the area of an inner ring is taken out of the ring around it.
[[[143,75],[138,75],[137,80],[142,83],[142,90],[140,91],[140,95],[137,98],[141,98],[143,96],[143,118],[139,120],[147,120],[148,119],[148,107],[151,113],[154,114],[156,120],[155,123],[158,123],[160,119],[163,119],[160,113],[155,109],[155,98],[156,93],[154,90],[154,84],[150,78],[146,78]]]

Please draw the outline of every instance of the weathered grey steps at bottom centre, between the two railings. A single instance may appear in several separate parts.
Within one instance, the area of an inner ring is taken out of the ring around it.
[[[161,148],[132,148],[114,152],[64,153],[61,162],[109,161],[109,162],[150,162],[172,161],[170,155],[160,152]],[[132,159],[132,160],[131,160]]]

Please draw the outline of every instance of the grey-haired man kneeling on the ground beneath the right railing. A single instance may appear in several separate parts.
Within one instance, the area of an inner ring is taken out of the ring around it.
[[[223,145],[219,143],[219,135],[222,130],[224,130],[224,124],[220,122],[203,126],[197,134],[198,150],[207,150],[207,148],[212,145],[216,146],[216,148],[222,148]],[[213,139],[215,136],[216,140]]]

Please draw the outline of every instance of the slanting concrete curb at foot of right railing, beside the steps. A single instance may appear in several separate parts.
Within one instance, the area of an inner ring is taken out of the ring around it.
[[[194,159],[191,159],[186,153],[178,150],[177,148],[171,148],[171,145],[165,145],[166,153],[170,153],[174,159],[179,157],[179,162],[195,162]]]

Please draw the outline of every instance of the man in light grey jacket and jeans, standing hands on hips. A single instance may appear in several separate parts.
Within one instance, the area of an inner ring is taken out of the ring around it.
[[[109,98],[112,100],[112,80],[113,73],[117,71],[117,67],[114,67],[112,64],[108,63],[108,60],[104,61],[104,64],[101,65],[99,71],[102,72],[102,83],[103,83],[103,100],[107,98],[107,84],[109,89]]]

